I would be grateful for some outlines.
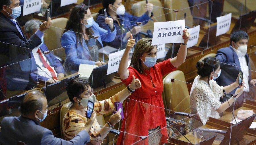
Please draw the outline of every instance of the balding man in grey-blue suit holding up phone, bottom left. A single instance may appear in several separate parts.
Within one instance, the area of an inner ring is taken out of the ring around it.
[[[38,122],[45,119],[47,115],[46,96],[39,91],[31,91],[26,94],[20,105],[21,116],[5,117],[1,122],[0,144],[17,144],[18,141],[32,145],[84,145],[90,141],[88,132],[96,118],[96,113],[86,122],[85,128],[81,130],[70,141],[56,138],[51,130],[46,129]]]

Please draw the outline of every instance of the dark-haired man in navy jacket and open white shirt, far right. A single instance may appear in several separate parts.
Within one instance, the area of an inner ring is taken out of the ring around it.
[[[243,72],[244,92],[249,92],[249,87],[255,85],[256,79],[251,79],[250,63],[247,54],[247,44],[249,36],[242,30],[232,32],[230,35],[230,46],[221,48],[216,53],[216,58],[221,62],[220,77],[216,79],[219,86],[227,86],[236,82],[239,71]],[[231,93],[235,93],[234,89]],[[243,101],[241,97],[236,103]]]

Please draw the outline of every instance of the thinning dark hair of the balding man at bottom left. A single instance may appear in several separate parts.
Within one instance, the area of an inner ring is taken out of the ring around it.
[[[46,96],[40,91],[28,92],[20,104],[20,113],[27,115],[36,110],[42,111],[44,107],[43,98],[46,98]]]

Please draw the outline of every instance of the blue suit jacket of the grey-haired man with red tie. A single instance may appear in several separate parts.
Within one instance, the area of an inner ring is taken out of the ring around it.
[[[42,46],[40,46],[40,49],[41,49],[41,51],[49,51],[47,46],[44,43],[43,43]],[[30,52],[30,55],[31,55],[31,62],[32,62],[32,65],[31,65],[32,67],[31,67],[31,71],[30,71],[30,78],[32,80],[34,80],[35,82],[37,80],[47,81],[48,79],[50,79],[48,75],[46,75],[46,77],[37,75],[37,70],[38,69],[36,67],[36,61],[34,59],[34,55],[33,55],[32,52]],[[50,63],[50,66],[54,67],[54,70],[57,72],[57,74],[65,73],[60,61],[58,59],[56,59],[51,52],[49,54],[47,54],[46,56],[47,56],[47,61],[49,61],[49,63]]]

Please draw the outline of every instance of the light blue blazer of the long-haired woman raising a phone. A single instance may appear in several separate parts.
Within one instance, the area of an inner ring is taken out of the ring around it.
[[[102,29],[96,22],[93,22],[91,26],[93,35],[99,36],[97,40],[103,47],[102,41],[111,42],[115,39],[116,30],[111,32],[110,28],[108,30]],[[82,44],[81,44],[82,43]],[[65,48],[66,59],[64,63],[64,70],[67,73],[78,72],[79,65],[89,64],[94,65],[95,61],[89,59],[89,49],[85,42],[77,42],[75,32],[73,30],[63,33],[61,37],[61,45]],[[83,46],[82,46],[83,45]],[[89,44],[94,45],[94,44]]]

